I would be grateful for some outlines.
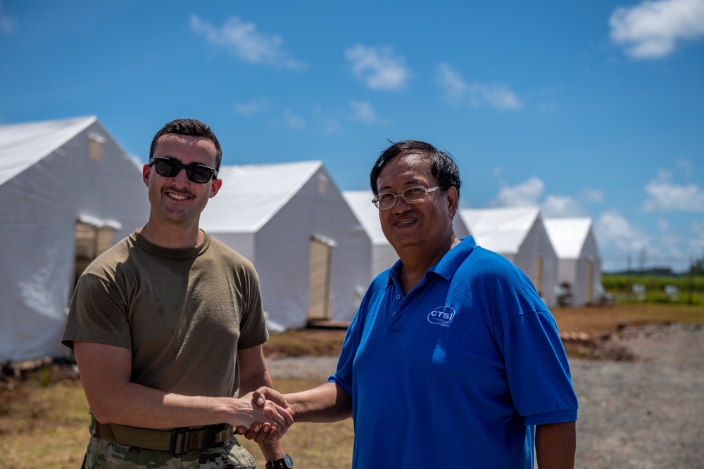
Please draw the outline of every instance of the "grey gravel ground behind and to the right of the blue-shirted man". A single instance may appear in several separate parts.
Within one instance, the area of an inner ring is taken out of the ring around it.
[[[704,328],[624,328],[570,359],[579,397],[577,469],[704,469]],[[267,360],[277,378],[325,379],[337,357]]]

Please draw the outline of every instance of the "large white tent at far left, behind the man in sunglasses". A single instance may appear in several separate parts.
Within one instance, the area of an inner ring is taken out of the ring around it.
[[[0,126],[0,363],[68,356],[77,274],[148,215],[139,166],[96,117]]]

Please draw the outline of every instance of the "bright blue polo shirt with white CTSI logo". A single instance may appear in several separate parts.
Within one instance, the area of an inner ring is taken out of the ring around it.
[[[353,468],[527,468],[534,425],[577,420],[552,314],[527,276],[474,245],[403,295],[379,274],[329,380],[351,395]]]

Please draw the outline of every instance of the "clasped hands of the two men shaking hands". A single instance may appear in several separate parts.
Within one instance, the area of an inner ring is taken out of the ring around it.
[[[281,439],[294,423],[294,412],[283,394],[270,387],[260,387],[238,399],[245,405],[245,425],[233,425],[237,435],[257,443],[272,443]],[[249,425],[249,429],[246,427]]]

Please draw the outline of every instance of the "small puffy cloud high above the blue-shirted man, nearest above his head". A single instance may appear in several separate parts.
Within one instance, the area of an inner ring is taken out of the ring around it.
[[[345,57],[352,63],[354,75],[371,89],[398,91],[408,82],[410,72],[403,57],[394,56],[390,47],[348,47]]]

